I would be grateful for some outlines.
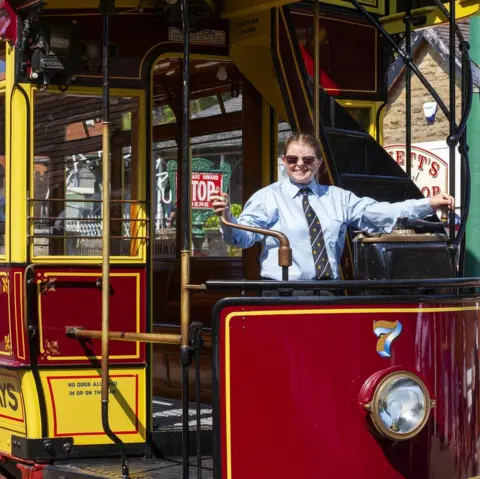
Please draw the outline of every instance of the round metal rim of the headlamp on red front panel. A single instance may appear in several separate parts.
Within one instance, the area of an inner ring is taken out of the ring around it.
[[[396,433],[395,431],[392,431],[382,421],[380,417],[380,412],[379,412],[380,410],[379,402],[382,398],[382,393],[387,387],[391,385],[393,381],[395,381],[396,379],[405,379],[405,378],[408,378],[414,381],[422,391],[422,394],[425,398],[425,414],[422,421],[415,429],[413,429],[408,433],[400,434],[400,433]],[[435,407],[435,401],[430,398],[430,393],[428,391],[427,386],[425,385],[425,382],[418,375],[411,373],[409,371],[395,371],[390,374],[387,374],[385,377],[383,377],[380,380],[379,384],[375,388],[375,392],[373,394],[371,401],[365,404],[364,407],[370,412],[372,423],[382,436],[385,436],[394,441],[406,441],[418,435],[420,431],[425,427],[425,424],[430,418],[430,412],[432,408]]]

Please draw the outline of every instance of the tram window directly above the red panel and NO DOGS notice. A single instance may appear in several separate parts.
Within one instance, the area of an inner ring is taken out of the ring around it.
[[[111,254],[136,256],[140,236],[136,97],[111,99]],[[34,256],[99,256],[102,243],[102,98],[35,93]],[[135,246],[135,247],[133,247]]]

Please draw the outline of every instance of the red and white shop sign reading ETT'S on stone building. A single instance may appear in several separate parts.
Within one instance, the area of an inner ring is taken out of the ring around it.
[[[385,146],[388,154],[406,171],[405,145]],[[448,193],[448,163],[431,151],[412,145],[412,180],[425,197]]]

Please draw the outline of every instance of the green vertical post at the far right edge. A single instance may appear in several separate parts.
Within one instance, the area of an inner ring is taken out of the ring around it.
[[[480,17],[470,19],[470,56],[480,64]],[[467,123],[471,171],[470,213],[466,231],[465,276],[480,276],[480,92],[474,85]]]

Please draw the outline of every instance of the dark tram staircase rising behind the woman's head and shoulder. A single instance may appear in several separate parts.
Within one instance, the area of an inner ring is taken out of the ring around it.
[[[296,90],[294,101],[287,101],[290,125],[314,131],[313,85],[308,78],[298,48],[288,8],[279,9],[274,35],[274,63],[283,92]],[[281,56],[281,63],[275,56]],[[288,96],[284,94],[284,97]],[[357,196],[378,201],[423,198],[421,191],[404,170],[325,90],[320,88],[320,141],[327,169],[323,181],[348,189]]]

